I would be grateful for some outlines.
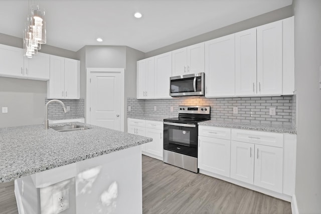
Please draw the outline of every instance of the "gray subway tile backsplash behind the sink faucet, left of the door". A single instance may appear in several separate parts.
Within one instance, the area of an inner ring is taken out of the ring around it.
[[[45,104],[50,99],[45,99]],[[84,117],[85,115],[85,99],[80,98],[79,100],[61,100],[65,106],[70,107],[70,111],[64,113],[62,106],[59,103],[50,103],[48,105],[48,117]]]

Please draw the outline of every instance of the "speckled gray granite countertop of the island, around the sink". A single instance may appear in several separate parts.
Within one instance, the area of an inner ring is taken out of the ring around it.
[[[44,125],[0,128],[0,183],[119,151],[152,141],[121,131],[84,123],[91,129],[58,132]]]

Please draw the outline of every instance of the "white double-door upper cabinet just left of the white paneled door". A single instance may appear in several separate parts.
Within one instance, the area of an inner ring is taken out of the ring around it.
[[[50,56],[48,99],[79,99],[80,62],[64,57]]]

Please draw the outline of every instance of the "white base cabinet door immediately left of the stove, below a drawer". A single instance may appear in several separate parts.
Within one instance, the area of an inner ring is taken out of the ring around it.
[[[163,160],[163,130],[146,128],[145,136],[152,138],[152,142],[145,144],[145,151]]]

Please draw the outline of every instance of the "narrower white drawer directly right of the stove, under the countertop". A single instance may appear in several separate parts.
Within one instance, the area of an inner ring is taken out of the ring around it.
[[[199,126],[199,135],[229,140],[231,139],[231,129],[214,126]]]

